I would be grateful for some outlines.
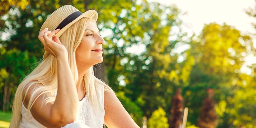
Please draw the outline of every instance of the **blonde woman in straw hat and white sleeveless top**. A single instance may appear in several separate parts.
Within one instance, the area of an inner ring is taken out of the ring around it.
[[[95,10],[64,5],[46,19],[38,35],[44,59],[17,88],[10,128],[139,128],[94,76],[104,44],[97,17]]]

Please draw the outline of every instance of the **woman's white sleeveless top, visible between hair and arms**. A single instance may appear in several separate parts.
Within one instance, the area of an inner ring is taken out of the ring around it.
[[[88,95],[86,95],[81,101],[78,102],[77,123],[83,123],[90,128],[102,128],[104,124],[104,88],[97,88],[97,98],[100,111],[97,114],[93,113],[91,102]],[[67,126],[67,125],[65,125]],[[64,126],[64,127],[65,127]],[[36,121],[31,112],[23,105],[21,106],[21,121],[19,128],[46,128],[44,125]],[[66,128],[66,127],[65,127]]]

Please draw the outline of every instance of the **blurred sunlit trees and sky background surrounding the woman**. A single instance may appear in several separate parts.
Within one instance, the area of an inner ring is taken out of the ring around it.
[[[256,128],[255,0],[1,0],[0,128],[42,59],[37,36],[62,5],[95,9],[104,37],[96,76],[141,128]]]

